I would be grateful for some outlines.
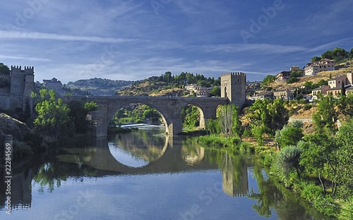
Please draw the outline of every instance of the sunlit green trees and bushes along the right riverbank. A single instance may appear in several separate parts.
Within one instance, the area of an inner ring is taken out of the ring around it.
[[[318,211],[352,219],[352,108],[352,93],[337,98],[321,96],[312,116],[313,133],[304,134],[301,121],[288,123],[289,102],[282,99],[256,100],[244,109],[248,123],[243,124],[236,106],[220,106],[217,119],[207,123],[208,135],[195,140],[205,146],[256,152],[271,178],[299,193]],[[257,144],[243,142],[249,137]],[[275,146],[265,147],[265,138],[272,138]]]

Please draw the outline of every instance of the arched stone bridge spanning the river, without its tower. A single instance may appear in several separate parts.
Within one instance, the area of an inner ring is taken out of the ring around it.
[[[147,96],[112,96],[112,97],[64,97],[66,102],[82,100],[83,102],[95,102],[97,111],[91,112],[92,121],[95,122],[95,137],[107,136],[109,121],[119,109],[128,104],[140,103],[151,106],[162,115],[166,133],[177,135],[182,131],[180,119],[181,109],[187,105],[196,106],[200,111],[200,127],[205,127],[205,121],[216,118],[216,109],[220,104],[229,104],[227,97],[147,97]]]

